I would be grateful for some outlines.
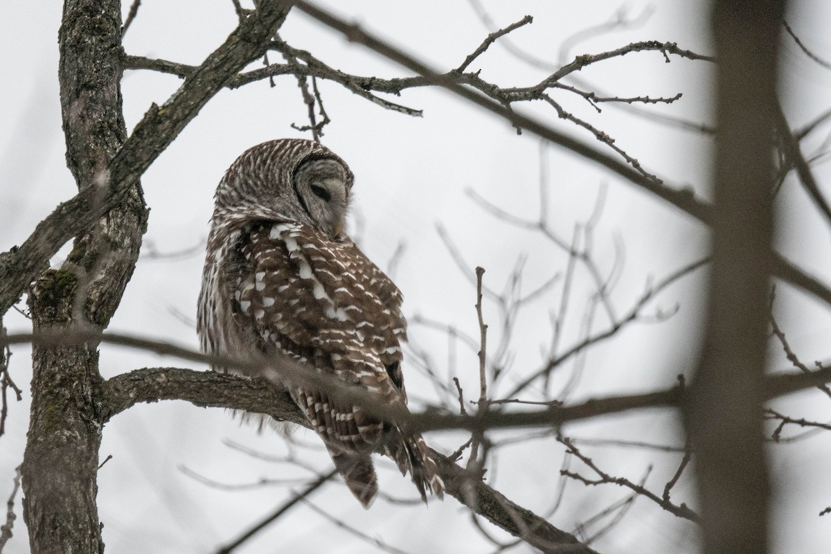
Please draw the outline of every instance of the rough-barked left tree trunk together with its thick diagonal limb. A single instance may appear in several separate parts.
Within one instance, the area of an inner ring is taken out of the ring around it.
[[[132,277],[147,226],[139,178],[204,104],[262,55],[286,17],[260,2],[160,109],[127,137],[122,115],[118,0],[66,0],[59,32],[66,164],[78,195],[40,223],[20,248],[0,256],[5,311],[28,283],[36,332],[101,331]],[[75,238],[57,270],[49,257]],[[108,418],[96,340],[33,347],[32,411],[22,464],[23,518],[32,552],[103,552],[96,507],[101,429]]]

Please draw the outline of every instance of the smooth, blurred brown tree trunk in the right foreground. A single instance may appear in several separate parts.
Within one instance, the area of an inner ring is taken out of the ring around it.
[[[708,320],[686,424],[703,552],[767,552],[762,436],[776,68],[784,0],[717,0],[718,135]]]

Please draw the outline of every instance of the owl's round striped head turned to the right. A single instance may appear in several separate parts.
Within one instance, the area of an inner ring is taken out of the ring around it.
[[[312,140],[270,140],[243,152],[216,189],[214,221],[249,208],[264,218],[304,223],[337,238],[354,176],[332,150]]]

